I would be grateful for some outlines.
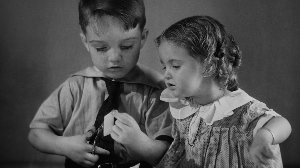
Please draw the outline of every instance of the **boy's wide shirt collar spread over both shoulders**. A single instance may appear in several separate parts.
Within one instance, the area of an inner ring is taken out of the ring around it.
[[[71,74],[70,76],[83,76],[83,77],[105,77],[108,78],[102,71],[95,66],[88,67],[82,71]],[[140,83],[149,85],[158,89],[166,88],[164,83],[164,77],[157,71],[154,71],[145,66],[136,65],[128,74],[124,77],[115,79],[114,81],[125,83]]]

